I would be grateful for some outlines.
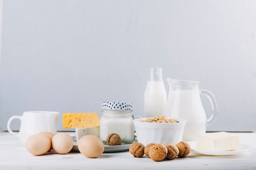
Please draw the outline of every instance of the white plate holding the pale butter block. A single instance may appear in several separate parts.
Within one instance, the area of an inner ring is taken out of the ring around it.
[[[210,151],[210,150],[198,150],[196,148],[196,141],[189,141],[187,142],[190,147],[191,147],[191,151],[195,152],[195,153],[199,153],[202,155],[213,155],[213,156],[225,156],[225,155],[234,155],[234,154],[238,154],[241,152],[245,152],[246,150],[249,150],[249,146],[245,145],[245,144],[239,144],[239,147],[237,150],[231,150],[231,151]]]

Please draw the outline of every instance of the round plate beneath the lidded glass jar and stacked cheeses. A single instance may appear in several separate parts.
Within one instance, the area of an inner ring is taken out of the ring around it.
[[[72,137],[73,139],[73,151],[79,152],[76,137]],[[132,141],[132,144],[137,142],[137,140]],[[131,144],[122,143],[121,145],[108,146],[108,144],[104,143],[104,152],[103,153],[111,153],[111,152],[122,152],[129,150]]]

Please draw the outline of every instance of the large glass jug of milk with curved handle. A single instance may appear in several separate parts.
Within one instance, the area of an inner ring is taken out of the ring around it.
[[[196,141],[198,135],[206,132],[218,116],[218,106],[214,95],[200,90],[199,83],[168,77],[169,93],[163,115],[170,118],[186,119],[182,141]],[[211,102],[212,113],[207,119],[200,96],[205,95]]]

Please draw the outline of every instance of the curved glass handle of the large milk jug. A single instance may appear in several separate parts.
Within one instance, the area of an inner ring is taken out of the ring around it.
[[[210,126],[218,117],[217,102],[213,93],[211,93],[210,91],[207,91],[207,90],[200,90],[200,91],[201,91],[201,95],[205,95],[206,97],[208,97],[208,99],[211,102],[212,113],[211,113],[211,117],[207,119],[207,126]]]

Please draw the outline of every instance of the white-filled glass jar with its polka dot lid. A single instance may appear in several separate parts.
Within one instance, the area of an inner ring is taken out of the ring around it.
[[[132,117],[133,103],[101,102],[101,109],[100,139],[105,142],[110,133],[116,133],[122,142],[132,143],[135,139]]]

